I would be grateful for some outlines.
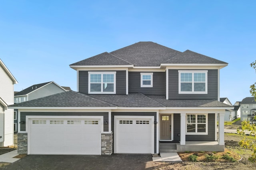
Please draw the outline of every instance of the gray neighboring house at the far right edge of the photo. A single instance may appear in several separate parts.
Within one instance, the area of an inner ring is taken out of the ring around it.
[[[252,121],[256,116],[256,101],[254,97],[246,97],[240,102],[241,120]]]

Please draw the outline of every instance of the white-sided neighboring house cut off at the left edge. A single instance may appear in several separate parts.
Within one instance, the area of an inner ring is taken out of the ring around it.
[[[13,109],[14,84],[18,81],[0,59],[0,146],[13,145]]]

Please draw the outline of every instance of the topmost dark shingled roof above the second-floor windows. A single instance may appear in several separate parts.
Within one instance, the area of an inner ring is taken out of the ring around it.
[[[222,64],[228,63],[190,50],[184,52],[165,47],[154,42],[138,42],[104,52],[78,61],[70,67],[130,65],[134,67],[159,67],[161,64]]]

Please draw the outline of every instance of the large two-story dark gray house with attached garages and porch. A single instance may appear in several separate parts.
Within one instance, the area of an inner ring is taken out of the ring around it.
[[[227,65],[153,42],[73,63],[78,92],[10,106],[19,109],[18,152],[223,151],[225,110],[233,109],[219,101],[220,69]]]

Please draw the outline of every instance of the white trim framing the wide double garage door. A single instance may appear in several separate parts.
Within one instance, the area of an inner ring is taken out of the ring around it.
[[[26,131],[28,133],[28,154],[30,154],[30,121],[32,119],[99,119],[100,120],[100,135],[103,130],[103,116],[26,116]],[[101,142],[100,142],[101,149]]]

